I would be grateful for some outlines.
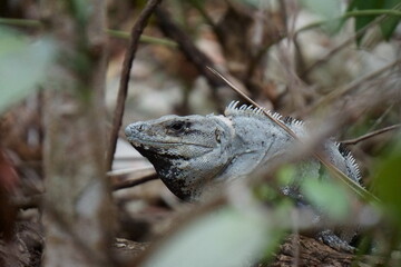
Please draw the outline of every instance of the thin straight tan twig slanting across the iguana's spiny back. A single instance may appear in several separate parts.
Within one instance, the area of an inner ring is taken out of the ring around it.
[[[234,91],[236,91],[241,97],[246,99],[248,102],[254,105],[255,107],[260,108],[263,113],[270,118],[272,121],[274,121],[276,125],[278,125],[283,130],[285,130],[291,137],[293,137],[295,140],[301,141],[300,138],[282,121],[275,119],[272,115],[270,115],[262,106],[256,103],[254,100],[252,100],[250,97],[247,97],[244,92],[242,92],[239,89],[237,89],[233,83],[231,83],[227,79],[225,79],[219,72],[217,72],[215,69],[211,67],[206,67],[208,70],[211,70],[214,75],[223,79]],[[354,192],[356,192],[359,196],[361,196],[364,200],[369,201],[376,201],[380,202],[380,200],[370,194],[366,189],[361,187],[356,181],[349,178],[346,175],[344,175],[336,166],[334,166],[332,162],[326,160],[320,152],[313,151],[313,156],[321,161],[329,171],[332,172],[333,176],[339,178],[341,181],[343,181],[346,186],[349,186]]]

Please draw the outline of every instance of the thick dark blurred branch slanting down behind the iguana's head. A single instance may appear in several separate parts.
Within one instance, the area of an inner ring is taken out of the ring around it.
[[[182,29],[179,29],[167,11],[162,7],[157,7],[155,14],[163,33],[178,43],[179,49],[185,57],[196,67],[199,73],[206,78],[211,87],[217,88],[225,86],[221,79],[217,79],[216,76],[207,70],[206,66],[214,66],[212,60],[192,42],[189,37]]]

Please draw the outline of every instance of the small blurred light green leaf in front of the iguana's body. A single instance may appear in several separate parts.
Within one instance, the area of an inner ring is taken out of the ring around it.
[[[324,210],[333,219],[345,218],[350,210],[344,188],[329,179],[304,179],[301,190],[312,206]]]

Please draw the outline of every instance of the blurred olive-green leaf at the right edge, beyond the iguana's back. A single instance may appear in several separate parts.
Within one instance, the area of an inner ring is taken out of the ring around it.
[[[401,142],[383,157],[373,180],[373,190],[383,201],[388,214],[401,224]]]

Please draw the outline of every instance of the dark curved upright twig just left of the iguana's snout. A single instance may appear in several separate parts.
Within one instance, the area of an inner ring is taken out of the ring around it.
[[[107,168],[111,169],[113,166],[113,158],[114,154],[116,152],[116,145],[117,145],[117,136],[118,131],[121,127],[124,108],[125,108],[125,100],[127,98],[128,91],[128,82],[129,82],[129,75],[133,67],[133,61],[138,49],[139,38],[143,33],[151,13],[156,9],[156,7],[162,2],[162,0],[149,0],[145,7],[145,9],[140,12],[137,21],[135,22],[131,29],[131,39],[128,46],[127,53],[124,58],[123,63],[123,73],[120,79],[120,85],[118,89],[118,97],[117,97],[117,106],[115,110],[114,121],[113,121],[113,129],[110,134],[110,142],[109,142],[109,150],[107,155]]]

